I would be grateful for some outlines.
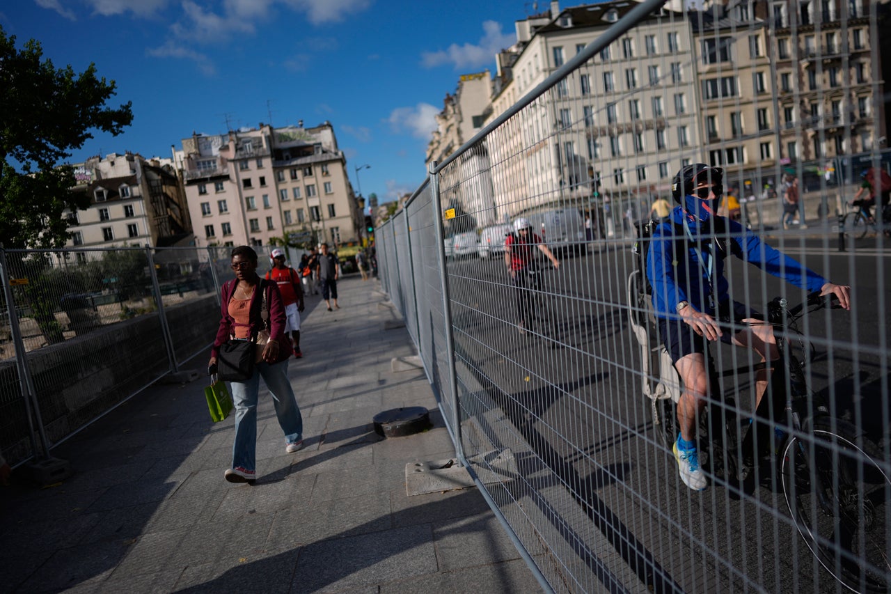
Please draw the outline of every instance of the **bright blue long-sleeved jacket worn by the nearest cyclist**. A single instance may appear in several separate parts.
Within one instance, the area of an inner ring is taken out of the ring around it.
[[[695,243],[691,242],[683,231],[685,217]],[[727,255],[734,253],[742,260],[763,269],[764,272],[779,276],[809,292],[819,291],[829,282],[764,243],[740,223],[723,217],[722,219],[726,230],[726,234],[723,235],[729,235],[723,237],[724,243],[728,244]],[[716,303],[730,299],[727,293],[727,279],[723,276],[723,257],[715,253],[712,273],[714,287],[709,289],[708,274],[706,267],[699,262],[697,247],[702,240],[699,245],[704,247],[699,253],[702,254],[703,260],[708,260],[708,255],[712,251],[709,248],[715,243],[710,241],[709,235],[700,231],[702,223],[685,215],[680,206],[672,210],[669,220],[670,222],[666,221],[653,231],[650,250],[647,252],[647,278],[653,287],[653,308],[656,309],[656,316],[663,319],[675,316],[675,308],[681,301],[690,301],[698,311],[714,314],[714,310],[708,307],[709,293],[716,296]],[[740,249],[732,250],[730,242],[736,243]],[[679,252],[685,251],[685,253],[675,254],[675,247]],[[715,252],[718,252],[716,248]]]

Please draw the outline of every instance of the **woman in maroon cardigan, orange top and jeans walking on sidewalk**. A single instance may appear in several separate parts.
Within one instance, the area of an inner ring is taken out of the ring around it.
[[[303,417],[288,380],[288,359],[293,352],[285,336],[285,311],[278,285],[257,276],[257,252],[247,245],[232,251],[234,280],[221,290],[220,325],[210,350],[208,372],[217,373],[220,347],[230,339],[255,341],[265,326],[261,316],[266,293],[269,316],[269,342],[253,374],[241,382],[232,382],[235,404],[235,442],[232,467],[225,471],[230,483],[253,483],[257,478],[257,399],[260,377],[273,398],[275,416],[285,438],[285,451],[303,447]]]

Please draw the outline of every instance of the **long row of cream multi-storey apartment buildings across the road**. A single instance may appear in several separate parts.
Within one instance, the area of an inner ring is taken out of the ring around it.
[[[871,2],[723,0],[701,11],[666,3],[474,147],[497,163],[486,169],[492,208],[501,218],[582,202],[594,186],[601,200],[649,200],[695,161],[723,167],[730,185],[754,194],[803,162],[805,171],[823,171],[846,155],[887,148],[889,40],[875,39],[871,22],[887,29],[891,3]],[[554,1],[516,21],[517,43],[496,55],[483,124],[637,4],[561,10]],[[454,96],[445,103],[428,161],[446,158],[459,118]],[[460,192],[461,180],[476,170],[461,166],[444,171],[443,186],[471,210],[479,193]]]

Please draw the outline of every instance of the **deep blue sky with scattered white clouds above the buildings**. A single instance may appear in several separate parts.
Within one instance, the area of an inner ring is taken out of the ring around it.
[[[539,12],[548,7],[539,2]],[[169,156],[192,130],[315,126],[330,120],[356,186],[381,202],[423,180],[433,116],[462,73],[495,71],[523,0],[19,0],[0,7],[17,46],[35,38],[56,67],[113,79],[133,102],[118,137],[71,161],[133,151]]]

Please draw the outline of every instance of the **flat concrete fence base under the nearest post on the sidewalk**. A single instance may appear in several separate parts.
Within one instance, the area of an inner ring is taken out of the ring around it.
[[[485,462],[483,462],[485,460]],[[510,481],[517,476],[517,462],[511,450],[489,452],[470,458],[470,464],[484,484]],[[426,495],[442,491],[456,491],[474,486],[465,466],[454,458],[429,462],[409,462],[405,465],[405,493]]]

